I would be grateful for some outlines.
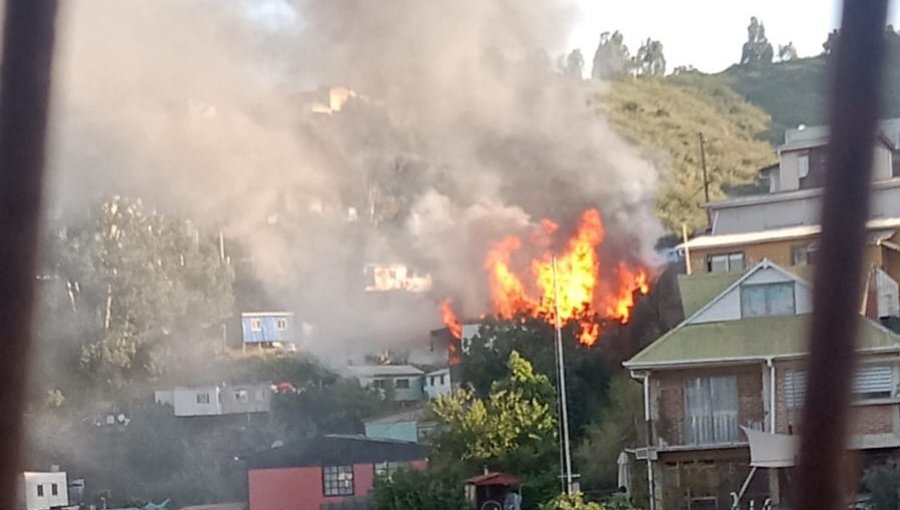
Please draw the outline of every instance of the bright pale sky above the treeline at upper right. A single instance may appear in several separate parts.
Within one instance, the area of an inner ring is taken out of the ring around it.
[[[648,37],[663,43],[667,70],[691,65],[718,72],[737,63],[756,16],[776,55],[778,45],[793,42],[799,56],[822,52],[827,34],[840,23],[835,0],[579,0],[581,15],[569,39],[590,66],[602,32],[619,30],[631,53]],[[894,2],[895,3],[895,2]],[[898,9],[889,23],[900,27]]]

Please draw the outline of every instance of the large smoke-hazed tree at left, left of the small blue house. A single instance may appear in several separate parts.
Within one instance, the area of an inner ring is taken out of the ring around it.
[[[77,344],[90,378],[120,386],[220,345],[234,273],[190,221],[114,197],[86,221],[60,226],[48,244],[49,281],[67,310],[44,332]]]

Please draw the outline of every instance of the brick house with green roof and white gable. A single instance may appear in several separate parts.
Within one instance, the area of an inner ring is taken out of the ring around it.
[[[653,508],[731,508],[749,471],[741,427],[803,433],[809,283],[769,260],[743,273],[679,282],[687,317],[624,363],[644,387]],[[900,335],[860,317],[851,447],[864,465],[900,452]],[[784,470],[768,470],[745,501],[777,506],[789,494]]]

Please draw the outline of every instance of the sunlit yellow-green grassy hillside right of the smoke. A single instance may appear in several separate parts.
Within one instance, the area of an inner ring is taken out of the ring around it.
[[[625,138],[670,168],[658,213],[673,231],[681,224],[706,226],[698,133],[706,138],[710,198],[752,184],[758,170],[775,162],[760,137],[769,116],[731,90],[722,78],[697,76],[679,82],[657,78],[614,82],[598,92],[595,107]]]

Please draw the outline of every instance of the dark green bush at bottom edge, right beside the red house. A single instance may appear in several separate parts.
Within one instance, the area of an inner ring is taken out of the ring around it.
[[[468,510],[462,481],[434,471],[400,470],[378,477],[369,501],[372,510]]]

